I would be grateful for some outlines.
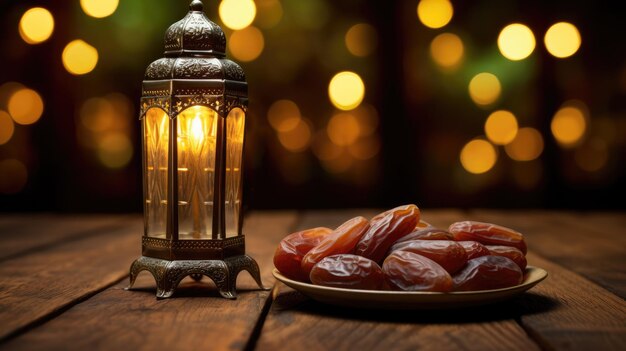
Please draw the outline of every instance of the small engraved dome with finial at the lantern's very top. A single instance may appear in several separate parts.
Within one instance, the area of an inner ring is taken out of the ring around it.
[[[224,56],[226,36],[222,28],[204,13],[200,0],[193,0],[189,12],[165,32],[165,56]]]

